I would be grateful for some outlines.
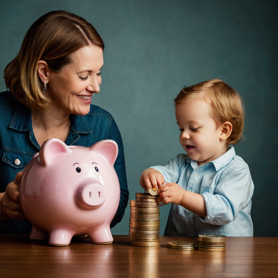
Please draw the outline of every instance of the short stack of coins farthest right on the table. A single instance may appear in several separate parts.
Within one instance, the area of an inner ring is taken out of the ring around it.
[[[200,251],[226,251],[226,235],[198,235],[196,249]]]

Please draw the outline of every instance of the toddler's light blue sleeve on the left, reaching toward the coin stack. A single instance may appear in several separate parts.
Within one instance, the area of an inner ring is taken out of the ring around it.
[[[169,160],[165,166],[152,166],[150,168],[156,169],[162,173],[165,182],[177,182],[180,175],[180,163],[183,159],[183,154],[178,154],[173,159]]]

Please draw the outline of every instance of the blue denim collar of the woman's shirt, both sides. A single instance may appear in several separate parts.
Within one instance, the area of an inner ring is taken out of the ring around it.
[[[83,116],[70,114],[70,119],[72,121],[72,131],[76,133],[93,132]],[[17,102],[15,107],[10,128],[18,131],[33,131],[31,110],[20,102]]]

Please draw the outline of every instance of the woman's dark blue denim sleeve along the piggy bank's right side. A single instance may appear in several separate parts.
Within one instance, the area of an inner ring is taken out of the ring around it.
[[[125,172],[125,156],[124,156],[124,146],[122,144],[122,137],[120,131],[116,125],[114,119],[111,123],[111,128],[109,132],[108,139],[114,140],[118,144],[118,156],[114,163],[114,169],[118,175],[118,179],[120,182],[120,204],[118,206],[117,212],[111,221],[110,227],[114,227],[117,223],[122,220],[122,217],[125,213],[125,208],[127,207],[128,201],[128,188],[127,188],[127,175]]]

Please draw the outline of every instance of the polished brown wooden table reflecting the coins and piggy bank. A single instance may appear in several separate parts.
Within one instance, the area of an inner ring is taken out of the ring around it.
[[[109,245],[87,238],[52,247],[0,235],[0,277],[278,277],[278,237],[227,237],[220,253],[167,249],[170,241],[197,238],[160,237],[160,248],[140,248],[115,235]]]

